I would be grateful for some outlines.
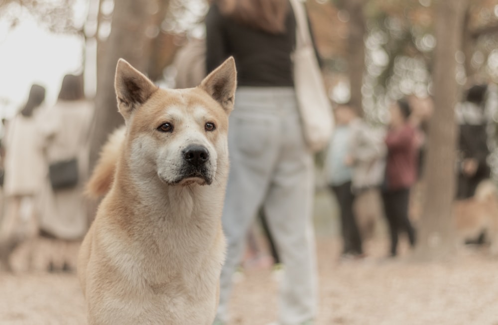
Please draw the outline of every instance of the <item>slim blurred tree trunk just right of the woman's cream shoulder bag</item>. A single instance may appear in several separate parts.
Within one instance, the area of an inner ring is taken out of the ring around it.
[[[363,116],[362,86],[365,71],[365,16],[364,0],[345,1],[349,13],[348,71],[350,80],[350,104],[359,116]]]

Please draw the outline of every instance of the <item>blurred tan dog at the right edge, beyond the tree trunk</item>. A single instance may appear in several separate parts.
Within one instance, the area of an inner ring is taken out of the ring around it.
[[[462,243],[488,243],[498,255],[498,192],[491,180],[482,181],[473,197],[453,204],[457,240]]]

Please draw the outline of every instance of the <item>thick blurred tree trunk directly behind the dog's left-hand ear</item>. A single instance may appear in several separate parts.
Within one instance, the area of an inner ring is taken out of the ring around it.
[[[90,169],[93,169],[102,145],[114,129],[123,124],[118,113],[114,76],[119,58],[124,58],[140,71],[147,68],[148,42],[145,29],[149,24],[150,0],[119,0],[114,2],[111,33],[106,52],[98,67],[94,129],[90,139]]]

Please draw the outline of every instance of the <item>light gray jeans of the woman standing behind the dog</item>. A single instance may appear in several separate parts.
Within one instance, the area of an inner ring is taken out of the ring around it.
[[[242,260],[246,235],[260,206],[285,265],[279,322],[294,325],[312,320],[317,305],[314,169],[293,88],[240,87],[230,116],[229,151],[223,211],[228,247],[217,320],[226,321],[231,278]]]

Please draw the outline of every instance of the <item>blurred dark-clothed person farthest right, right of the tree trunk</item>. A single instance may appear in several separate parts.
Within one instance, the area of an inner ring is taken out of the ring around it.
[[[457,199],[474,196],[478,184],[491,176],[485,99],[487,85],[474,85],[457,106],[458,185]]]

